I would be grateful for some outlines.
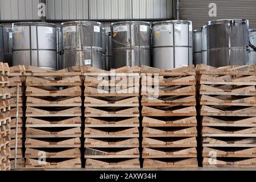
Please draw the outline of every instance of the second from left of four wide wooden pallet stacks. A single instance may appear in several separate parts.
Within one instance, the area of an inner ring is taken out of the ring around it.
[[[85,168],[139,168],[139,67],[86,68]]]

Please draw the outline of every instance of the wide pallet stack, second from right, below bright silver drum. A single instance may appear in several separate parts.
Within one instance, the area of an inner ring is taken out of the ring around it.
[[[143,168],[197,167],[195,67],[141,68]]]

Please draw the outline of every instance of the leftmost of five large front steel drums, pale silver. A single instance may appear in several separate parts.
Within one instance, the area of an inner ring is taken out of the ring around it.
[[[51,23],[13,24],[13,65],[57,68],[56,26]]]

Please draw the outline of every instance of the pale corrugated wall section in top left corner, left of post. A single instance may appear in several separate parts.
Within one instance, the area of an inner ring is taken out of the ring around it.
[[[0,0],[1,20],[34,20],[38,16],[39,0]]]

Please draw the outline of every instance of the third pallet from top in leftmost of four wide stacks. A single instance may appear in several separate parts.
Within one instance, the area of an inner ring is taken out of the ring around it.
[[[45,86],[38,86],[32,87],[27,86],[26,88],[26,96],[81,96],[81,87],[80,86],[73,86],[71,88],[64,88],[64,89],[56,89],[52,87],[45,87]]]

